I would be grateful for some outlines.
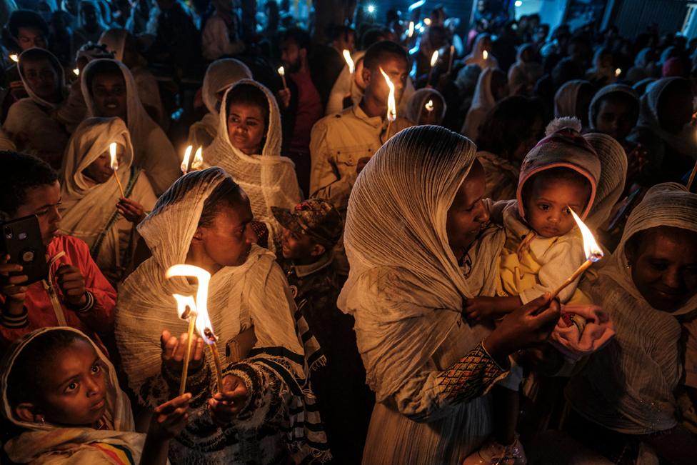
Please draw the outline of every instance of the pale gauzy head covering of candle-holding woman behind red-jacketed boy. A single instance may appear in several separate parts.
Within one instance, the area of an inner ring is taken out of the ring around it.
[[[116,202],[121,193],[114,176],[103,184],[90,183],[82,171],[101,154],[109,153],[109,145],[116,142],[123,147],[117,171],[121,185],[127,186],[131,179],[133,146],[126,124],[120,118],[88,118],[75,130],[63,158],[63,179],[59,207],[61,232],[75,235],[91,248],[116,211]],[[114,241],[111,250],[117,250],[119,237],[116,230],[106,234],[104,240]],[[94,257],[93,257],[94,258]]]

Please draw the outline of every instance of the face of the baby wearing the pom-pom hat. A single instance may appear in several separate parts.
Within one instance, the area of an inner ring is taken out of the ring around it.
[[[577,214],[586,208],[591,188],[586,184],[536,176],[525,200],[525,217],[542,237],[563,236],[576,226],[569,207]]]

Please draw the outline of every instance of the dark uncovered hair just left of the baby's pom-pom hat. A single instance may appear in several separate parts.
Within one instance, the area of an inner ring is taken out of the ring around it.
[[[543,119],[541,101],[518,95],[506,97],[496,102],[479,126],[477,149],[510,160],[538,119]]]

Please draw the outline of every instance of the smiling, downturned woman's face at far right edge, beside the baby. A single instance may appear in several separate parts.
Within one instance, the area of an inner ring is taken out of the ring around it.
[[[626,254],[634,286],[654,309],[676,311],[697,293],[696,232],[648,229]]]

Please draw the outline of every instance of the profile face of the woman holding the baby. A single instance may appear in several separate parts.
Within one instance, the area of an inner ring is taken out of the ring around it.
[[[467,253],[482,225],[489,220],[488,210],[481,201],[485,189],[484,169],[475,161],[455,194],[446,220],[448,244],[458,262]]]

